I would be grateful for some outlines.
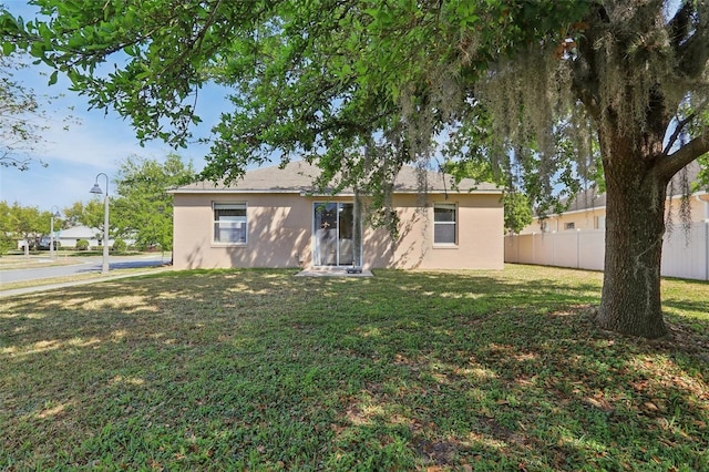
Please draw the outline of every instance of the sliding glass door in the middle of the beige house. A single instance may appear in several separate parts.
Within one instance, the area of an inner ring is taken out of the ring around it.
[[[354,205],[316,203],[314,212],[314,265],[360,265],[359,249],[362,239],[354,233]]]

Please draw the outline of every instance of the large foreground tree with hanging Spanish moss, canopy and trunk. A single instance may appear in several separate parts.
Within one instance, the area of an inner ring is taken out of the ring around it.
[[[482,105],[492,165],[514,152],[525,189],[542,195],[577,182],[596,141],[608,202],[598,322],[667,332],[662,209],[672,175],[709,151],[699,120],[709,2],[37,3],[51,20],[0,17],[6,44],[65,72],[92,105],[130,116],[141,138],[184,144],[199,86],[234,90],[208,178],[305,156],[323,179],[362,183],[386,205],[398,168],[425,167],[438,143],[466,136]],[[102,75],[116,51],[130,59]]]

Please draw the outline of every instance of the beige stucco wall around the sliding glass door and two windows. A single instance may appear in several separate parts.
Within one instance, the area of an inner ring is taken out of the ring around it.
[[[310,267],[314,203],[323,198],[298,194],[175,194],[175,268]],[[337,197],[328,202],[351,202]],[[500,195],[429,195],[419,207],[417,195],[395,195],[401,228],[398,244],[384,228],[364,227],[364,268],[502,269],[504,242]],[[213,242],[212,203],[247,204],[247,243]],[[458,244],[433,245],[433,203],[458,204]]]

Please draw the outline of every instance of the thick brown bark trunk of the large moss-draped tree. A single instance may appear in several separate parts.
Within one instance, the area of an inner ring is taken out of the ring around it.
[[[615,136],[604,153],[606,255],[598,322],[623,335],[658,338],[668,332],[660,302],[668,181],[628,141]]]

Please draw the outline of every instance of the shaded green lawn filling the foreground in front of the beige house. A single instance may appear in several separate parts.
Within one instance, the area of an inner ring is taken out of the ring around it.
[[[175,271],[3,299],[3,470],[707,470],[709,284],[675,341],[597,273]]]

